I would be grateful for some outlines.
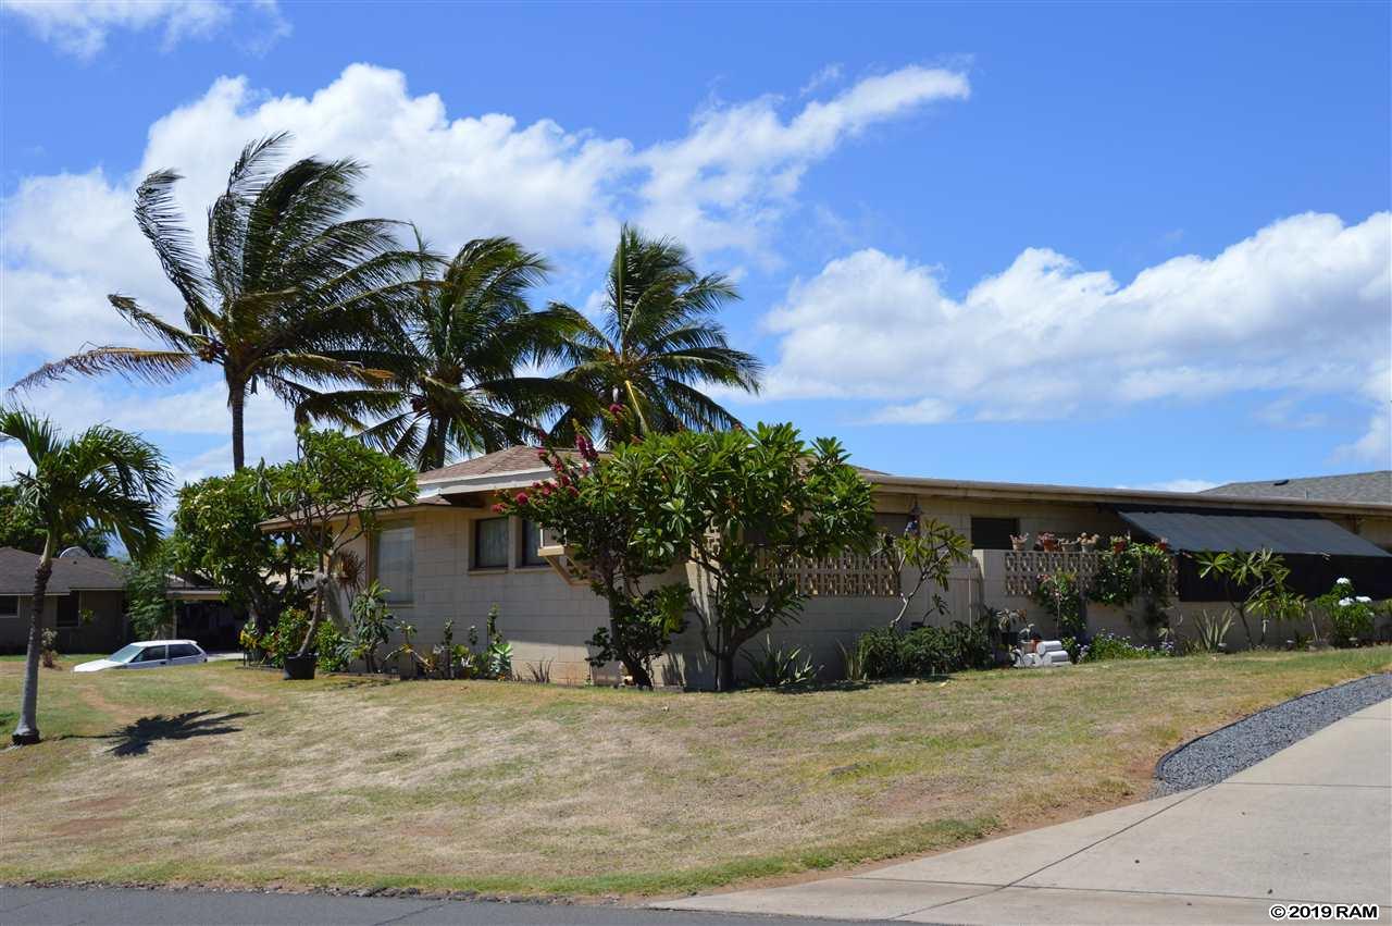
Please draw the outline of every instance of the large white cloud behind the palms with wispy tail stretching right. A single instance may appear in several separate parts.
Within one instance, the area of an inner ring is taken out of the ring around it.
[[[288,130],[291,156],[366,163],[362,212],[416,221],[441,249],[508,234],[560,258],[560,280],[585,301],[625,216],[697,251],[767,256],[773,224],[813,163],[876,123],[965,97],[967,89],[962,74],[906,67],[805,102],[786,117],[774,97],[709,107],[685,136],[639,149],[546,118],[525,125],[501,113],[451,116],[438,95],[412,95],[402,72],[367,64],[349,65],[309,96],[274,96],[245,78],[220,78],[150,127],[129,174],[93,167],[28,177],[0,203],[0,376],[14,382],[43,359],[89,344],[136,343],[107,305],[109,292],[175,317],[171,287],[131,219],[134,189],[150,170],[184,173],[177,198],[198,235],[228,166],[253,138]],[[122,389],[113,379],[78,382],[25,400],[74,423],[226,433],[213,386]],[[128,407],[110,398],[138,394],[170,398]],[[281,427],[267,425],[267,436],[273,426]],[[249,447],[251,457],[258,453]]]

